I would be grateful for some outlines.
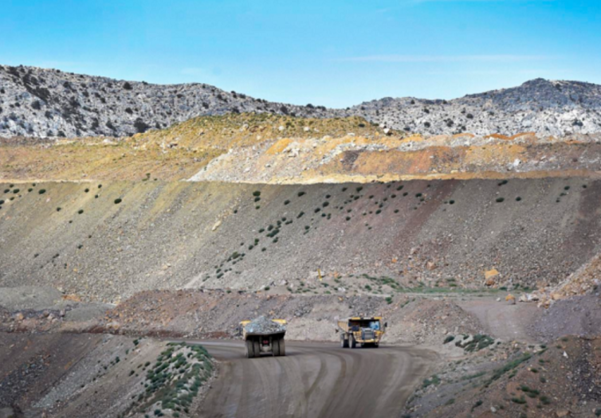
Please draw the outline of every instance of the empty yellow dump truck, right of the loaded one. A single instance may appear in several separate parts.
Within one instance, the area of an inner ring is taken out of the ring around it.
[[[346,321],[338,321],[336,332],[340,333],[340,346],[342,348],[379,347],[380,340],[388,324],[382,317],[374,316],[363,318],[355,316]]]

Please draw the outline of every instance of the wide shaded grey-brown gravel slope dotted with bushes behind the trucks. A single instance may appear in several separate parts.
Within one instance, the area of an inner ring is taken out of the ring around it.
[[[598,253],[589,179],[0,185],[0,285],[402,295],[535,288]]]

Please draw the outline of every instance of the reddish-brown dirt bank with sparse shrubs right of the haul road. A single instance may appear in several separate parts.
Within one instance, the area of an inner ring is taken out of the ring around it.
[[[450,362],[424,381],[407,412],[412,417],[601,416],[600,371],[600,337],[562,337],[548,346],[516,348],[506,360],[476,368]]]

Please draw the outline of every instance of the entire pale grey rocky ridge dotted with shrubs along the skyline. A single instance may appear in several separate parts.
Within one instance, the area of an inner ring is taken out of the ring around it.
[[[601,86],[537,79],[463,98],[384,98],[347,109],[268,102],[206,84],[155,85],[35,67],[0,66],[0,136],[128,136],[199,115],[258,112],[360,116],[426,135],[561,136],[601,132]]]

